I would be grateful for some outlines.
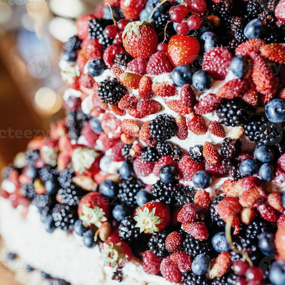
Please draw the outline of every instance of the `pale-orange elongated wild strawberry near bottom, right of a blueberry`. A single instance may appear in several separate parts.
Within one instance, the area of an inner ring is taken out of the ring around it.
[[[221,252],[216,257],[211,266],[210,278],[223,276],[231,268],[231,254],[229,252]]]

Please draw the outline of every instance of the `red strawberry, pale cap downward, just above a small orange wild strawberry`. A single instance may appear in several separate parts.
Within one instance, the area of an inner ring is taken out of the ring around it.
[[[110,215],[110,205],[106,197],[98,192],[90,192],[83,196],[78,205],[78,216],[85,227],[101,226]]]

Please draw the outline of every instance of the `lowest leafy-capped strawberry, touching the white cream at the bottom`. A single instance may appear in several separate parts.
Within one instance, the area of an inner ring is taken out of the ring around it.
[[[132,257],[131,247],[117,236],[104,241],[100,253],[104,266],[113,268],[124,266]]]

